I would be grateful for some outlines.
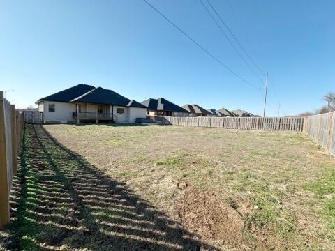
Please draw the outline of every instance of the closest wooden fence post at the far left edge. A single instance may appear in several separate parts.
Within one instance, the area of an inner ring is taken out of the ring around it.
[[[3,91],[0,91],[0,226],[9,222],[9,190]]]

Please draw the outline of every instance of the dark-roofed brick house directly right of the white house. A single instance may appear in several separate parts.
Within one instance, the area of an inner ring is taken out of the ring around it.
[[[141,102],[147,107],[148,116],[188,116],[186,109],[179,107],[165,98],[149,98]]]

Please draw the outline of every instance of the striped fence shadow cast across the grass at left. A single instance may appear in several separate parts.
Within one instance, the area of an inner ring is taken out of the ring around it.
[[[215,250],[40,125],[25,126],[20,162],[7,248]]]

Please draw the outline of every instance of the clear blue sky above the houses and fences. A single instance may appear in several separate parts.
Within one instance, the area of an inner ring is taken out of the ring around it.
[[[78,83],[142,101],[262,114],[255,77],[199,0],[148,0],[251,84],[223,68],[142,0],[0,0],[0,90],[17,107]],[[335,1],[210,0],[269,72],[267,115],[297,114],[335,91]],[[262,91],[260,91],[262,89]],[[275,90],[275,91],[274,91]]]

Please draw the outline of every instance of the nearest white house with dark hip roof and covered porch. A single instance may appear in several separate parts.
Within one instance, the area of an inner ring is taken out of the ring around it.
[[[145,118],[147,107],[120,94],[87,84],[77,84],[36,101],[44,121],[134,123]]]

